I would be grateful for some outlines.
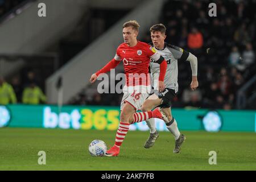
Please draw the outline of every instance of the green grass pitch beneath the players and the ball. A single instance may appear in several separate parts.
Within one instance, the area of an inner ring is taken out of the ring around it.
[[[109,147],[115,131],[32,128],[0,129],[0,170],[256,170],[256,133],[182,131],[187,140],[173,154],[174,138],[160,132],[155,146],[143,147],[149,132],[129,131],[118,157],[93,157],[89,143],[101,139]],[[46,165],[38,152],[46,152]],[[217,152],[210,165],[209,151]]]

